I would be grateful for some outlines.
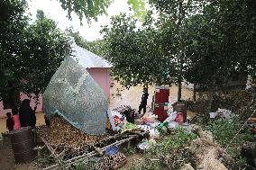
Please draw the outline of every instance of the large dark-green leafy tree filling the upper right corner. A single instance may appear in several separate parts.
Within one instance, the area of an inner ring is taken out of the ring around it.
[[[186,22],[187,81],[210,91],[208,112],[217,88],[234,72],[255,75],[255,21],[246,0],[215,1]],[[189,38],[188,38],[189,37]]]

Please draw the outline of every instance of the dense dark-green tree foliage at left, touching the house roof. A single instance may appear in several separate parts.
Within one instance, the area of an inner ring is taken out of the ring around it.
[[[19,94],[40,94],[63,58],[69,54],[67,36],[41,12],[29,25],[23,0],[1,1],[1,100],[17,112]],[[1,11],[2,12],[2,11]]]

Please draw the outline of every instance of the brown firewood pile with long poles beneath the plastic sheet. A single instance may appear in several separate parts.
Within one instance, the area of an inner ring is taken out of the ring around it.
[[[50,157],[55,163],[55,165],[43,165],[46,166],[45,170],[69,167],[88,157],[102,155],[105,148],[119,146],[133,139],[141,139],[147,134],[147,132],[124,134],[112,132],[101,136],[88,135],[74,128],[60,116],[50,120],[50,127],[39,127],[37,133],[44,144],[42,148],[50,151]]]

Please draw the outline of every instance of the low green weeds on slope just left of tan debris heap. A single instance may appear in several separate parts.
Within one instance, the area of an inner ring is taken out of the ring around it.
[[[167,166],[171,169],[179,169],[192,160],[187,147],[193,139],[197,139],[194,133],[188,133],[183,128],[176,129],[173,135],[152,145],[143,160],[129,167],[130,169],[164,169]]]

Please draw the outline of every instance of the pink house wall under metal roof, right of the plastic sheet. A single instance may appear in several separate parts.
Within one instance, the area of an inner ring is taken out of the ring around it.
[[[103,89],[106,97],[110,99],[111,77],[109,75],[108,68],[92,67],[92,68],[87,68],[87,71],[94,78],[96,83]]]

